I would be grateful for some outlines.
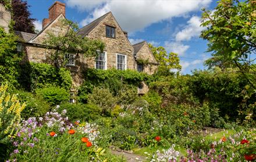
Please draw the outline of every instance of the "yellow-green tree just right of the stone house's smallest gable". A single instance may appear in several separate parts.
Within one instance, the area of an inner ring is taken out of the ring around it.
[[[179,72],[182,69],[180,65],[180,58],[176,53],[169,53],[164,47],[154,47],[153,45],[149,45],[150,49],[155,57],[155,60],[158,62],[158,73],[161,75],[169,75],[172,71]]]

